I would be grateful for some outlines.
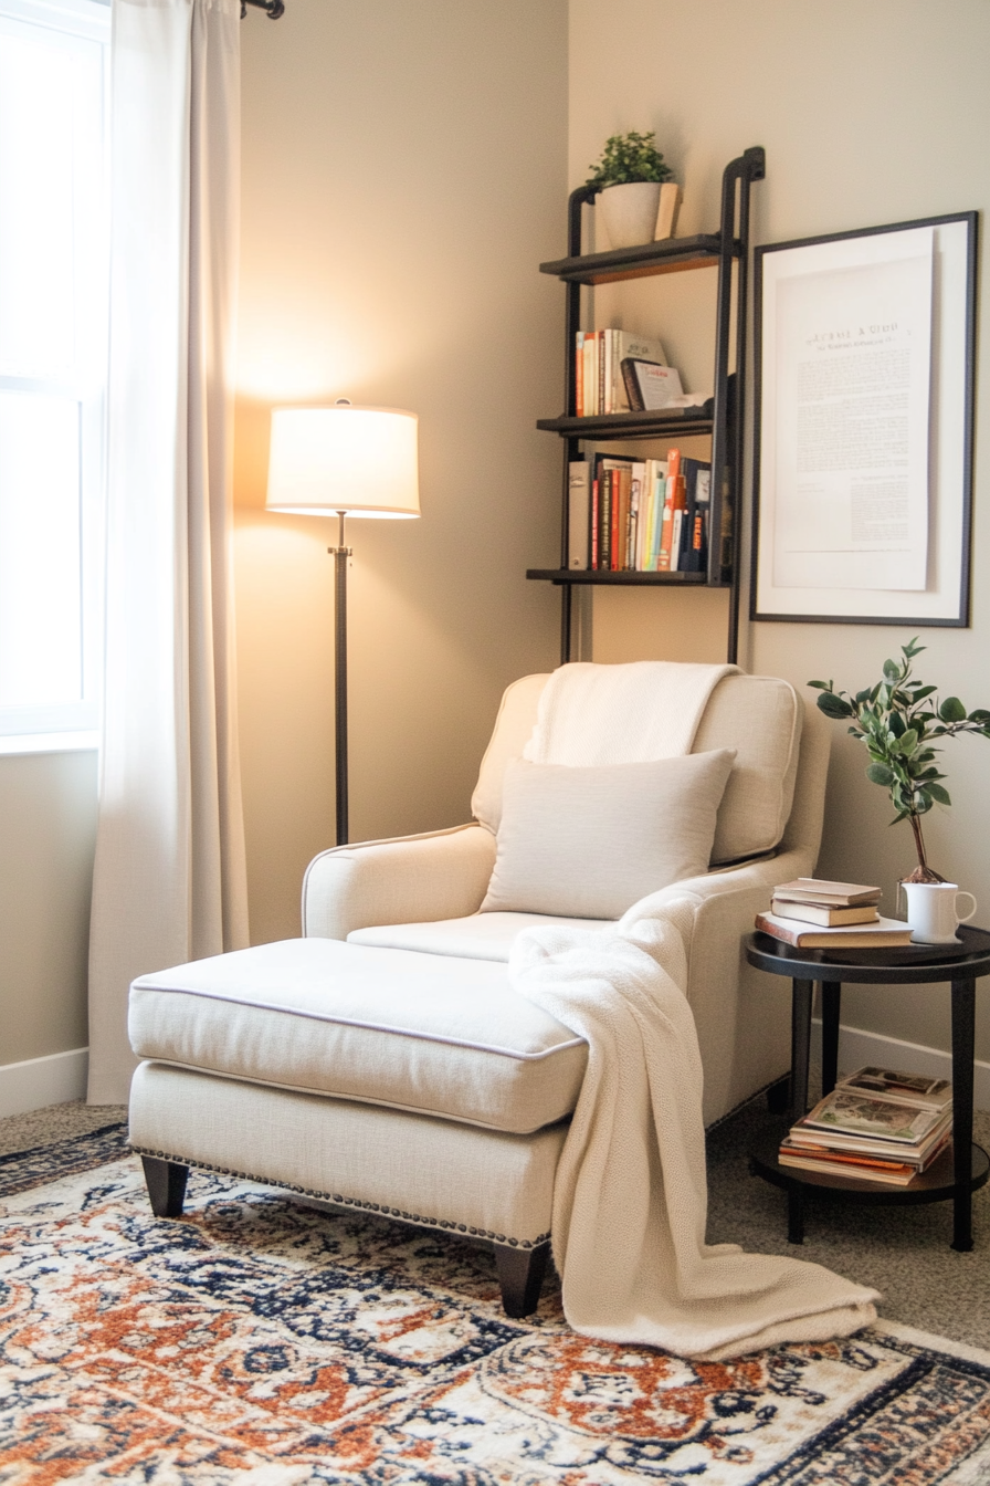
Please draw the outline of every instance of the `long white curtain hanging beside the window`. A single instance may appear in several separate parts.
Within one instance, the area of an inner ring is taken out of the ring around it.
[[[113,0],[105,709],[89,1100],[134,976],[248,942],[232,624],[239,0]]]

